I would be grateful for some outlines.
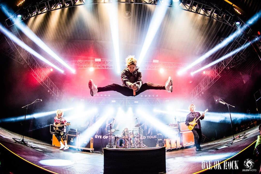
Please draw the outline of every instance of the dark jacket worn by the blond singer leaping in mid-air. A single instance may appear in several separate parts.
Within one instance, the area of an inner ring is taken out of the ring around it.
[[[131,89],[131,85],[128,85],[126,82],[131,82],[137,84],[137,91],[140,89],[142,85],[142,79],[141,79],[141,72],[139,71],[139,67],[136,66],[136,69],[134,70],[133,73],[129,72],[128,67],[123,69],[121,71],[121,81],[123,86],[127,86],[129,89]]]

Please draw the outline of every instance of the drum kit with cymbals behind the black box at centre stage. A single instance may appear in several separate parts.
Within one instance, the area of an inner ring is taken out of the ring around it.
[[[122,136],[111,134],[109,144],[106,147],[110,148],[146,148],[143,144],[143,129],[142,124],[135,125],[132,130],[123,130]],[[108,132],[116,132],[118,129],[111,129]]]

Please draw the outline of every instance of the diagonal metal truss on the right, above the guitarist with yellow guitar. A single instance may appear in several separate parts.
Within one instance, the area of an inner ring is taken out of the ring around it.
[[[248,42],[248,38],[246,38],[245,34],[249,34],[250,32],[251,29],[247,33],[239,34],[224,55],[234,51],[235,49],[240,48],[242,45]],[[201,80],[201,82],[189,93],[187,99],[192,100],[196,96],[200,95],[204,90],[209,89],[221,77],[221,72],[228,66],[235,66],[240,64],[241,62],[246,61],[247,56],[244,53],[246,49],[247,48],[239,50],[236,54],[218,62],[212,68],[210,73],[203,80]]]

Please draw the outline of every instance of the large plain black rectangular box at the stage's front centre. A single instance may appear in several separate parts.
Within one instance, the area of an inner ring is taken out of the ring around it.
[[[104,149],[104,174],[166,173],[165,147]]]

